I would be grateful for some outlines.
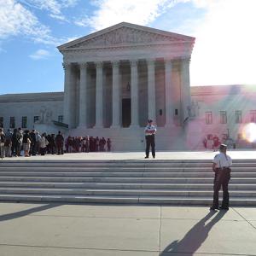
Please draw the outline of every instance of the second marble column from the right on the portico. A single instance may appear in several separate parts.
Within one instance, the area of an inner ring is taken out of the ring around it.
[[[165,60],[165,97],[166,97],[166,127],[173,125],[173,103],[172,103],[172,60]]]

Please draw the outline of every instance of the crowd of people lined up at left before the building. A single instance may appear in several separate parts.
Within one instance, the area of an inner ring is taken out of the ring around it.
[[[111,151],[111,140],[104,137],[67,137],[64,139],[61,131],[55,134],[40,134],[38,131],[25,130],[21,128],[10,129],[3,132],[0,128],[0,156],[12,157],[21,156],[24,152],[25,157],[37,154],[64,154],[78,152],[98,152]]]

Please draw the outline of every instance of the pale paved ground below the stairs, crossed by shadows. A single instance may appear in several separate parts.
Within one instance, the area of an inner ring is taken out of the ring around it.
[[[256,255],[256,208],[0,203],[0,255]]]

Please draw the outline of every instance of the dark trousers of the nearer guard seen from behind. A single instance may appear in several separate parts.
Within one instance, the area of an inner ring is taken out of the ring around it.
[[[213,186],[213,207],[218,207],[218,191],[222,186],[223,201],[222,207],[227,208],[230,204],[229,182],[230,182],[230,168],[217,169],[215,172],[214,186]]]

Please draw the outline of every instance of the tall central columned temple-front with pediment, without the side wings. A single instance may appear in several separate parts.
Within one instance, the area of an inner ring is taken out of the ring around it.
[[[183,148],[194,43],[122,22],[59,46],[68,133],[111,137],[117,150],[142,149],[144,127],[153,119],[157,148]]]

